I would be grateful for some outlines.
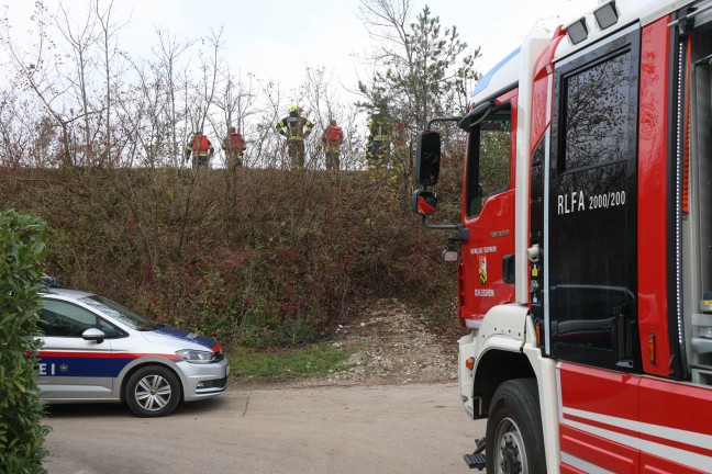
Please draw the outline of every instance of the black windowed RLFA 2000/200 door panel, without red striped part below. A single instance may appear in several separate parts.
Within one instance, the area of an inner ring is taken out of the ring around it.
[[[548,352],[639,366],[636,176],[639,30],[557,65],[548,181]]]

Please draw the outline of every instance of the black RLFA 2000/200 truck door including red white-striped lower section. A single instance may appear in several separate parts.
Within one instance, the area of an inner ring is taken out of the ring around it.
[[[555,65],[544,249],[561,472],[638,472],[639,29]]]

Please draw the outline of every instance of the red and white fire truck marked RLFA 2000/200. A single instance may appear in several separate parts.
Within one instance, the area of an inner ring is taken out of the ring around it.
[[[489,473],[712,472],[712,0],[533,31],[419,137],[457,230],[459,388]],[[467,133],[461,221],[440,121]]]

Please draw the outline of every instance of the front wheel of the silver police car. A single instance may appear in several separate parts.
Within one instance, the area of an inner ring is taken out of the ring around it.
[[[126,383],[126,405],[140,417],[170,415],[181,398],[176,374],[159,365],[138,369]]]

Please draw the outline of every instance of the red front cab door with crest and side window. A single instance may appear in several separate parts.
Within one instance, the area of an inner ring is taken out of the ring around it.
[[[469,241],[461,248],[460,280],[460,318],[468,326],[514,300],[515,93],[500,98],[469,134],[463,200]]]

